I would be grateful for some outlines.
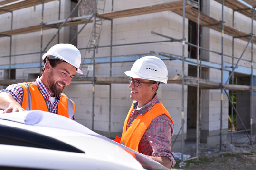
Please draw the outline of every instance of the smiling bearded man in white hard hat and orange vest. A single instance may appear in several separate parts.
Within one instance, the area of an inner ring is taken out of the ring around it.
[[[42,76],[35,82],[9,85],[0,91],[3,113],[43,110],[75,120],[75,104],[62,93],[79,69],[81,54],[71,44],[56,44],[43,55]]]

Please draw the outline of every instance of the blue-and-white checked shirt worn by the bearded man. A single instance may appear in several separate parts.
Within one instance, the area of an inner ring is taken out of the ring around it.
[[[40,76],[38,76],[38,78],[36,79],[36,85],[38,86],[39,91],[41,92],[45,101],[47,102],[47,107],[49,112],[58,114],[58,103],[61,95],[56,95],[55,102],[52,104],[49,100],[51,93],[47,89],[47,87],[43,84],[43,82],[40,80]],[[10,93],[14,98],[14,100],[16,100],[16,102],[21,104],[24,91],[19,84],[9,85],[6,89],[2,89],[0,92]],[[75,120],[74,116],[72,117],[72,120]]]

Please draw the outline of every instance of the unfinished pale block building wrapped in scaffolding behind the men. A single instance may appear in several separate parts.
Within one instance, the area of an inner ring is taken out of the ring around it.
[[[81,70],[64,93],[76,121],[121,136],[134,61],[161,58],[158,96],[174,121],[173,151],[256,141],[256,0],[0,0],[0,87],[34,81],[42,55],[71,43]]]

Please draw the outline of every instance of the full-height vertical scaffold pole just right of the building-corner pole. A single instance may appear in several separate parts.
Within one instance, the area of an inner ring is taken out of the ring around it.
[[[196,132],[196,157],[199,156],[199,46],[200,46],[200,0],[198,0],[198,16],[197,16],[197,132]]]

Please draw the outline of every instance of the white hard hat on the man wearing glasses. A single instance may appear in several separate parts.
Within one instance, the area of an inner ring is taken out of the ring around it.
[[[130,71],[124,72],[132,78],[141,78],[167,83],[168,70],[164,62],[155,56],[145,56],[133,63]]]

